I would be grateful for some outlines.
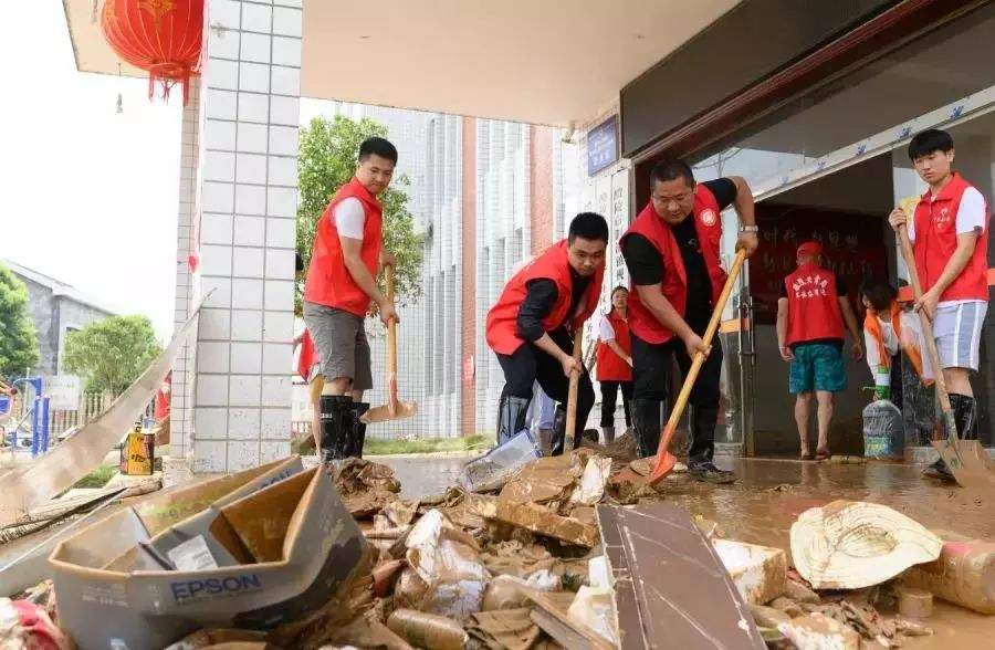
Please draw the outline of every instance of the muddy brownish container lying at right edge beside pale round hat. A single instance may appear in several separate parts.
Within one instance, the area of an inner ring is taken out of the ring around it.
[[[978,614],[995,614],[995,543],[949,538],[935,562],[911,567],[901,581]]]

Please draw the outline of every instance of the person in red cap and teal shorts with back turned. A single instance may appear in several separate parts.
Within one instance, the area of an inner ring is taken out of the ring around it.
[[[829,424],[834,394],[847,388],[842,358],[844,325],[853,337],[853,358],[863,357],[853,307],[842,280],[819,265],[823,247],[807,241],[798,247],[798,269],[785,277],[777,301],[777,349],[790,361],[788,389],[795,396],[795,423],[802,441],[802,460],[808,450],[811,396],[818,401],[819,433],[815,460],[829,458]]]

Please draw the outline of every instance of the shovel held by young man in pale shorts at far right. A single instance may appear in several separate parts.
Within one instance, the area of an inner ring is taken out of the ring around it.
[[[904,211],[905,214],[910,214],[910,210]],[[909,270],[909,284],[912,285],[912,295],[918,301],[922,297],[922,285],[919,283],[919,273],[915,271],[912,242],[909,241],[909,231],[904,226],[899,228],[899,241],[902,247],[902,258],[905,260],[905,268]],[[950,468],[957,483],[964,488],[995,488],[995,474],[989,469],[991,461],[985,452],[985,448],[977,440],[961,440],[957,437],[957,424],[954,421],[953,410],[950,408],[950,395],[946,392],[943,367],[940,365],[940,353],[936,350],[936,339],[933,338],[933,324],[924,310],[919,311],[919,322],[922,324],[926,353],[930,355],[930,361],[934,368],[936,397],[940,398],[943,428],[946,429],[946,440],[933,440],[933,447],[940,453],[940,458],[943,459],[946,466]]]

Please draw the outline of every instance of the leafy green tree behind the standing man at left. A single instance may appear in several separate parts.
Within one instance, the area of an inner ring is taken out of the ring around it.
[[[373,119],[332,119],[315,117],[301,129],[297,150],[297,252],[304,268],[311,263],[314,232],[318,218],[332,195],[353,177],[359,145],[371,136],[387,136],[387,128]],[[408,211],[407,176],[395,177],[378,198],[384,206],[384,245],[397,259],[397,302],[406,304],[421,295],[422,238],[415,233],[415,219]],[[383,277],[380,277],[383,289]],[[301,314],[303,279],[297,282],[294,308]]]

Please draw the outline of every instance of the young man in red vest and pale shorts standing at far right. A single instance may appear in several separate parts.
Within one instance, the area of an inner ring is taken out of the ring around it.
[[[977,403],[970,374],[977,371],[981,333],[988,310],[988,206],[977,189],[951,169],[953,138],[940,129],[917,134],[909,158],[930,189],[912,219],[901,208],[888,218],[909,229],[915,270],[925,292],[915,303],[933,322],[933,337],[950,392],[957,434],[977,440]],[[953,481],[939,460],[925,475]]]

